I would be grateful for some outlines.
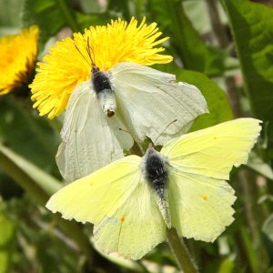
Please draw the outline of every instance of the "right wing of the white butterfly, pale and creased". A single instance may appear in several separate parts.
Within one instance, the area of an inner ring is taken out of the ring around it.
[[[158,137],[157,144],[163,144],[187,132],[197,116],[208,112],[196,86],[176,83],[174,75],[147,66],[120,63],[111,68],[110,81],[117,106],[138,141],[148,136],[155,142],[177,119]]]

